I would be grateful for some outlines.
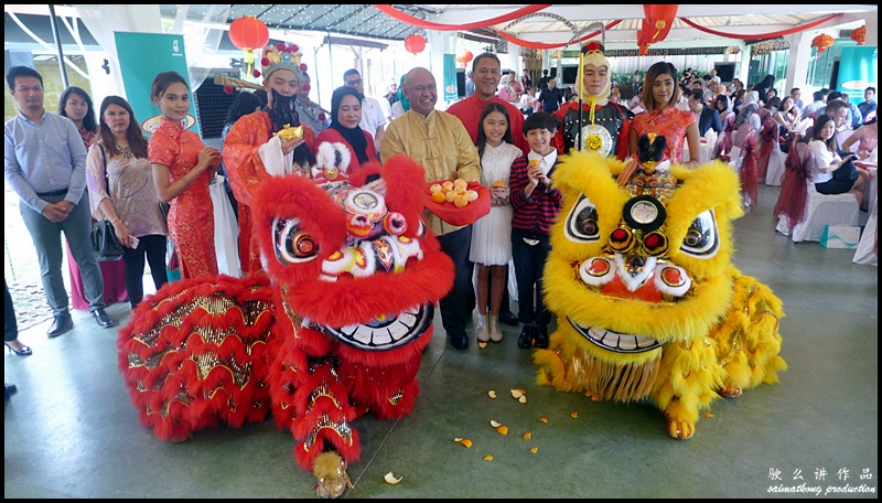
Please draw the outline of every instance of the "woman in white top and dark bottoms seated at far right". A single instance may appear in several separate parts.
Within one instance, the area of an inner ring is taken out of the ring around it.
[[[843,194],[850,192],[858,197],[858,204],[863,200],[864,178],[870,173],[857,168],[852,158],[853,153],[840,156],[836,142],[836,120],[822,114],[815,121],[811,130],[811,140],[808,142],[815,159],[814,176],[815,190],[820,194]],[[845,153],[845,152],[842,152]]]

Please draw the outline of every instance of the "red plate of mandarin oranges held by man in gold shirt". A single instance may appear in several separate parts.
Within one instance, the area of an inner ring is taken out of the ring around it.
[[[481,182],[438,180],[426,184],[426,207],[451,225],[474,224],[490,213],[490,191]]]

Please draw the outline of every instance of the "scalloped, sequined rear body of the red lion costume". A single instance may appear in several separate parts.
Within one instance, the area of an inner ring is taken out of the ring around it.
[[[119,370],[157,437],[266,419],[271,297],[266,277],[222,276],[169,283],[136,308],[119,332]]]

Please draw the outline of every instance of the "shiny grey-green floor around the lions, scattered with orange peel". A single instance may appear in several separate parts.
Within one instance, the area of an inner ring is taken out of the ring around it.
[[[828,497],[878,497],[878,269],[853,265],[851,250],[775,234],[778,190],[761,188],[761,206],[738,222],[735,263],[784,301],[789,370],[779,384],[717,400],[696,436],[677,441],[652,405],[535,384],[516,329],[506,327],[499,344],[456,351],[437,320],[413,414],[355,421],[363,453],[344,497],[815,497],[773,492],[781,488],[863,488],[872,492]],[[125,303],[108,311],[121,322],[130,313]],[[33,356],[6,355],[6,381],[19,393],[4,407],[4,497],[315,497],[290,434],[271,420],[180,445],[157,440],[117,372],[116,329],[79,311],[74,319],[55,340],[45,336],[49,322],[21,333]],[[526,389],[527,404],[508,396],[514,387]],[[389,471],[400,484],[384,482]]]

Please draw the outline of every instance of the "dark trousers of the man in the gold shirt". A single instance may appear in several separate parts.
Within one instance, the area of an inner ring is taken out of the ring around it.
[[[472,248],[472,226],[466,225],[459,231],[438,236],[438,242],[441,244],[441,250],[448,254],[456,268],[453,288],[439,302],[441,323],[448,334],[464,333],[465,324],[472,318],[472,310],[469,309],[470,291],[474,298],[472,285],[474,264],[469,260]]]

